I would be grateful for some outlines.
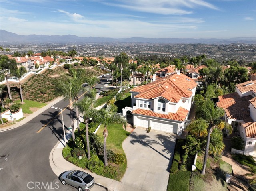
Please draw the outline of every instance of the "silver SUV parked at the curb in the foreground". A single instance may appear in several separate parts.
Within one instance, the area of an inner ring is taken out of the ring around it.
[[[94,186],[94,177],[80,170],[66,171],[60,177],[63,185],[69,184],[78,189],[78,191],[87,191]]]

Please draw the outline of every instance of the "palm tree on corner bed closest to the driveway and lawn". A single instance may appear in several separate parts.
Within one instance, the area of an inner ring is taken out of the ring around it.
[[[98,110],[94,116],[95,120],[101,124],[104,125],[104,165],[108,165],[108,158],[107,158],[107,136],[108,136],[108,130],[107,126],[112,123],[119,123],[124,124],[126,127],[126,120],[119,115],[118,113],[115,113],[112,111],[112,106],[108,105],[106,109],[102,108],[101,110]]]

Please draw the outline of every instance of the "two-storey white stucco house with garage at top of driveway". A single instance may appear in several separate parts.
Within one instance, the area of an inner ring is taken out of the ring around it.
[[[131,114],[136,126],[180,135],[195,91],[196,83],[178,71],[132,89],[132,107],[123,108],[123,116]]]

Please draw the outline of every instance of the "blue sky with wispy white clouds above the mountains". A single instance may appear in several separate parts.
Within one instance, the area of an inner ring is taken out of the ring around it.
[[[256,0],[0,0],[0,29],[18,35],[256,38]]]

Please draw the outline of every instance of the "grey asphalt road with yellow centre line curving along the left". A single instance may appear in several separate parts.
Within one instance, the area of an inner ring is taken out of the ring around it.
[[[100,83],[95,85],[97,92],[108,89],[104,87],[107,79],[110,79],[110,76],[100,78]],[[70,111],[64,109],[68,106],[68,101],[62,100],[54,106],[63,109],[65,128],[68,128],[71,124]],[[52,148],[63,137],[59,112],[59,110],[49,108],[28,123],[0,133],[1,191],[76,190],[69,185],[63,186],[60,182],[57,188],[58,177],[49,163]],[[58,116],[52,120],[56,115]],[[48,122],[50,123],[42,129]],[[37,187],[36,184],[38,184]],[[45,187],[47,184],[52,186]],[[92,190],[104,189],[94,186]]]

